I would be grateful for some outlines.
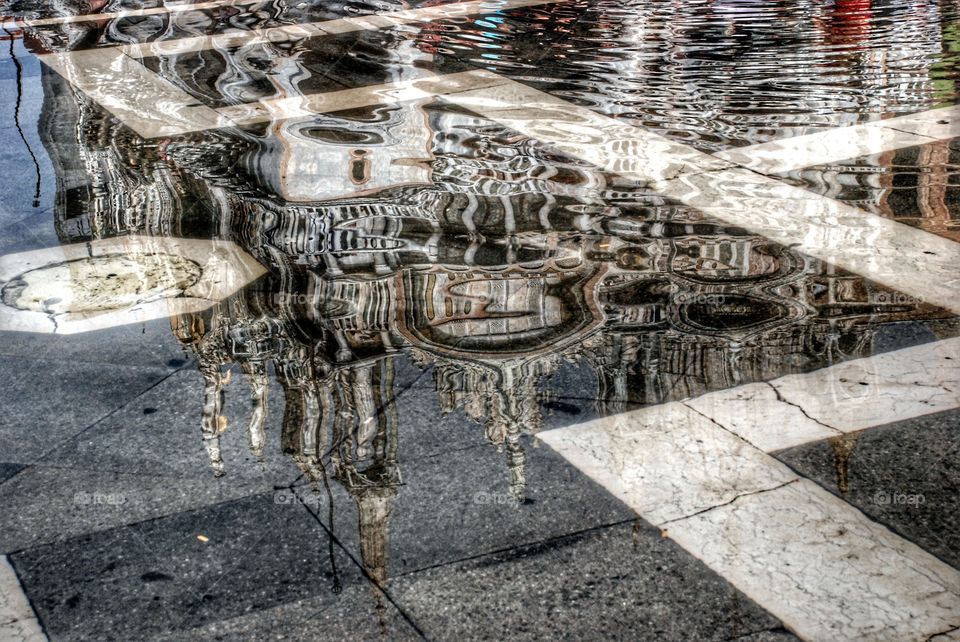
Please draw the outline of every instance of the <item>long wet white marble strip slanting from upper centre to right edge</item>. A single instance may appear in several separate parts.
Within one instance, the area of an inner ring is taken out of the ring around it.
[[[863,212],[521,83],[448,99],[659,194],[960,314],[960,244]]]

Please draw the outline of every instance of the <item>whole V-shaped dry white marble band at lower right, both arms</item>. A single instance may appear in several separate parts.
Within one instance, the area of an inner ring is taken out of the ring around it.
[[[800,637],[925,640],[960,625],[960,572],[754,444],[775,450],[841,433],[818,425],[818,415],[856,429],[882,412],[896,421],[956,407],[958,347],[953,339],[785,377],[772,382],[783,402],[744,386],[538,437]],[[829,415],[824,383],[835,382],[842,397],[859,385],[846,377],[864,373],[881,392],[838,399]],[[896,393],[908,385],[933,387],[939,401],[927,408],[909,395],[899,406]],[[858,407],[868,419],[854,416]]]

